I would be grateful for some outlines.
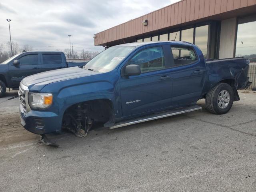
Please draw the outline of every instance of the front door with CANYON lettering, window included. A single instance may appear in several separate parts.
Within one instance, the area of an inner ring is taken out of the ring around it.
[[[125,66],[129,64],[138,64],[141,74],[120,78],[122,115],[132,116],[170,107],[172,78],[166,67],[163,47],[140,50]]]

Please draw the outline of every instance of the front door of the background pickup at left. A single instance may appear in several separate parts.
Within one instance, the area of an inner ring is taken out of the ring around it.
[[[19,86],[24,77],[41,72],[38,52],[24,53],[14,60],[19,60],[20,64],[14,66],[13,61],[9,63],[10,81],[13,87]]]

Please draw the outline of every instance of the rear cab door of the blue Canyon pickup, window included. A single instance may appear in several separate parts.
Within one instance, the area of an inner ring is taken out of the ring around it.
[[[193,47],[172,46],[172,106],[195,103],[202,94],[206,66]]]

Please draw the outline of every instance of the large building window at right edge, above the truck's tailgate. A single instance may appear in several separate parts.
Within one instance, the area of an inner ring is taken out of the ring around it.
[[[256,21],[238,24],[236,57],[256,58]]]

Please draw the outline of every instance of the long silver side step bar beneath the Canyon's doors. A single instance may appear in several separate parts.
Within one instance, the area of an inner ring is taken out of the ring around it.
[[[134,119],[118,122],[118,123],[114,124],[114,126],[110,127],[110,129],[115,129],[115,128],[124,127],[124,126],[132,125],[132,124],[142,123],[145,121],[151,121],[151,120],[155,120],[155,119],[160,119],[160,118],[178,115],[178,114],[182,114],[182,113],[187,113],[187,112],[200,110],[200,109],[202,109],[202,107],[200,107],[198,105],[189,106],[186,108],[178,108],[175,110],[160,112],[160,113],[156,113],[156,114],[142,116],[140,118],[134,118]]]

